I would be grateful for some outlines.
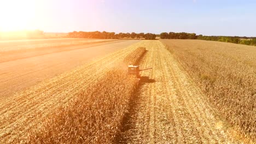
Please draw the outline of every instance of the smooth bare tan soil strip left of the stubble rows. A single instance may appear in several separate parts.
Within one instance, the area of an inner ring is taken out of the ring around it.
[[[137,40],[118,40],[99,43],[97,44],[98,46],[80,45],[62,47],[62,50],[68,50],[9,62],[0,62],[0,101],[14,92],[31,87],[40,81],[62,74],[79,65],[103,57],[107,53],[123,49],[137,42]],[[42,54],[41,51],[36,52]]]

